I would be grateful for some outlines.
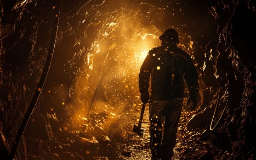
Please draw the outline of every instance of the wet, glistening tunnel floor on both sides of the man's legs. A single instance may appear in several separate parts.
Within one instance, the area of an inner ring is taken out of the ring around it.
[[[77,130],[64,125],[64,129],[58,128],[61,132],[54,131],[55,139],[40,140],[39,151],[35,143],[27,139],[28,160],[150,160],[147,106],[142,121],[143,137],[132,132],[134,123],[139,121],[139,109],[131,107],[132,116],[125,110],[120,115],[111,114],[111,111],[110,114],[91,114],[94,118],[80,119],[84,124]],[[173,160],[228,160],[227,151],[208,141],[210,131],[187,129],[194,112],[185,107],[182,111]],[[89,125],[86,127],[86,124]],[[54,129],[56,124],[51,125]]]

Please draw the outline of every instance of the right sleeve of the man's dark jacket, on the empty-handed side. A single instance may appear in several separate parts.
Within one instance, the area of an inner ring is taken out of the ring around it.
[[[189,56],[185,64],[184,78],[188,84],[190,98],[196,100],[199,92],[198,72]]]

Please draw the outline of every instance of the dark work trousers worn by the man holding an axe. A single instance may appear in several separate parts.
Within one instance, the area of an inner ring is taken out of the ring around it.
[[[152,159],[171,160],[173,148],[176,145],[182,103],[183,98],[151,100],[149,104],[149,133]]]

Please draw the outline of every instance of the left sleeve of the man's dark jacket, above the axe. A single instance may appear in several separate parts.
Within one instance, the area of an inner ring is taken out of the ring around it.
[[[153,69],[153,55],[152,50],[148,52],[147,57],[144,59],[142,63],[140,73],[139,73],[139,90],[140,93],[148,92],[149,87],[149,78]]]

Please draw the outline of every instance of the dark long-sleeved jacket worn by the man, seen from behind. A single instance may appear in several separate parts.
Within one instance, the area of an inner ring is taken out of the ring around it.
[[[176,45],[164,49],[155,47],[148,52],[139,73],[140,93],[148,92],[151,76],[151,96],[158,100],[184,97],[184,79],[190,97],[196,98],[199,90],[198,73],[192,59]]]

